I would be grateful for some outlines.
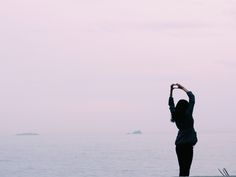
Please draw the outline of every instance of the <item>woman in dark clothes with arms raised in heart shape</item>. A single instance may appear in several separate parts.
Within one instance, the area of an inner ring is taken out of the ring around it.
[[[173,90],[182,89],[189,97],[187,100],[179,100],[174,104]],[[194,130],[193,107],[195,97],[191,91],[188,91],[180,84],[172,84],[170,87],[169,109],[171,112],[171,121],[175,122],[179,129],[175,140],[176,154],[179,162],[179,176],[189,176],[190,167],[193,159],[193,146],[197,143],[197,134]]]

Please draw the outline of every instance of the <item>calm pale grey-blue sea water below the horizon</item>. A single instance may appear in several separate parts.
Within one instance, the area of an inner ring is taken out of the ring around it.
[[[219,138],[221,137],[221,138]],[[169,177],[178,175],[175,133],[1,136],[0,177]],[[236,136],[199,135],[191,175],[236,174]]]

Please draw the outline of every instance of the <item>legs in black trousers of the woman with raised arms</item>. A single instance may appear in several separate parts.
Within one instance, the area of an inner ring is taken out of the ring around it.
[[[190,167],[193,160],[193,146],[176,146],[176,154],[179,162],[179,176],[189,176]]]

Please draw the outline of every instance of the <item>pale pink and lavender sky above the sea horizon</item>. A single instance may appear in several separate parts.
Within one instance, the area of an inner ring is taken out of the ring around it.
[[[1,134],[175,131],[176,82],[197,131],[236,130],[234,0],[7,0],[0,22]]]

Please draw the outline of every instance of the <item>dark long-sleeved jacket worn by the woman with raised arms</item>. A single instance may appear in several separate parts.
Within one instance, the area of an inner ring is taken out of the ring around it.
[[[178,135],[175,140],[175,145],[195,145],[197,143],[197,133],[194,130],[193,108],[195,104],[195,97],[192,92],[187,92],[189,97],[189,106],[185,112],[184,117],[181,119],[175,118],[175,104],[173,97],[169,97],[169,109],[175,124],[179,129]]]

